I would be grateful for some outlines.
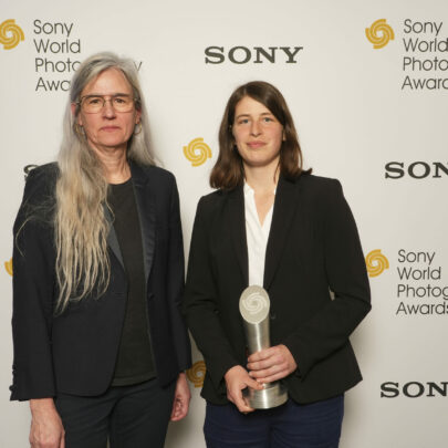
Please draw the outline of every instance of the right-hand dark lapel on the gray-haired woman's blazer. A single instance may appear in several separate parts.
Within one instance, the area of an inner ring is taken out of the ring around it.
[[[154,191],[149,188],[149,178],[135,163],[129,163],[137,211],[140,221],[143,241],[143,261],[145,263],[145,279],[148,280],[154,260],[156,240],[156,211]]]

